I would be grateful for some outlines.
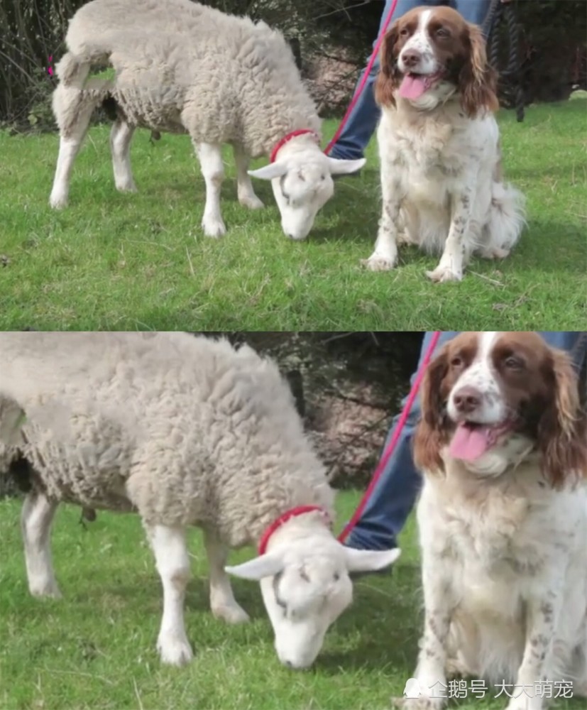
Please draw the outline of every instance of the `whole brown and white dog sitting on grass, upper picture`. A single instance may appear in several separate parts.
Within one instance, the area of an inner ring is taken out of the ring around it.
[[[508,256],[525,200],[503,182],[495,86],[480,29],[449,7],[415,8],[385,35],[375,82],[383,214],[368,268],[393,268],[400,241],[441,253],[434,281],[461,280],[473,253]]]

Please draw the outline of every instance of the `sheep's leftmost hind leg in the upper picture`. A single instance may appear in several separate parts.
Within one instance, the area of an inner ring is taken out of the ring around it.
[[[77,88],[60,84],[53,94],[53,111],[59,126],[59,155],[49,197],[51,207],[67,205],[70,192],[70,177],[75,156],[85,138],[89,119],[96,108],[96,99]]]

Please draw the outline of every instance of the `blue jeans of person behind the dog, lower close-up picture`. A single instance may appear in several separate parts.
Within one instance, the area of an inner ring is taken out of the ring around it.
[[[582,347],[578,351],[574,348],[581,332],[561,332],[561,331],[539,331],[544,340],[550,345],[566,350],[573,354],[574,365],[577,370],[587,356],[587,347]],[[446,341],[454,338],[456,332],[442,332],[439,338],[437,349]],[[422,364],[424,353],[427,351],[432,333],[426,333],[422,342],[418,369]],[[412,375],[411,383],[415,380]],[[402,408],[405,406],[407,398],[402,401]],[[420,408],[419,398],[416,398],[410,415],[407,417],[405,427],[397,439],[395,450],[391,455],[385,470],[373,490],[373,495],[369,499],[363,515],[351,534],[346,539],[349,547],[358,547],[362,550],[390,550],[397,546],[397,535],[405,525],[408,515],[414,507],[419,488],[422,482],[421,476],[417,473],[412,461],[412,435],[419,420]],[[392,422],[388,437],[385,441],[387,448],[393,431],[397,425],[400,415],[397,415]]]

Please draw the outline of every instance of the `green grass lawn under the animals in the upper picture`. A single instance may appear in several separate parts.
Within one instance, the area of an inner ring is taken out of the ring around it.
[[[0,133],[0,329],[577,329],[587,324],[586,99],[502,111],[508,178],[528,197],[515,253],[474,260],[462,283],[433,284],[435,258],[403,249],[400,268],[371,273],[380,212],[375,141],[358,178],[336,183],[310,238],[283,236],[268,207],[236,202],[226,151],[229,233],[204,237],[204,182],[187,136],[132,148],[139,192],[114,189],[107,126],[89,133],[75,163],[70,207],[48,195],[57,136]],[[327,121],[327,137],[335,121]],[[259,161],[256,165],[261,165]]]

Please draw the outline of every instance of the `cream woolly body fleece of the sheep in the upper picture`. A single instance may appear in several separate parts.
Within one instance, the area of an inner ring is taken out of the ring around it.
[[[65,62],[114,67],[112,93],[132,124],[238,143],[253,158],[292,127],[320,135],[292,50],[264,22],[190,0],[94,0],[65,41],[75,57]],[[61,77],[67,84],[65,65]]]

